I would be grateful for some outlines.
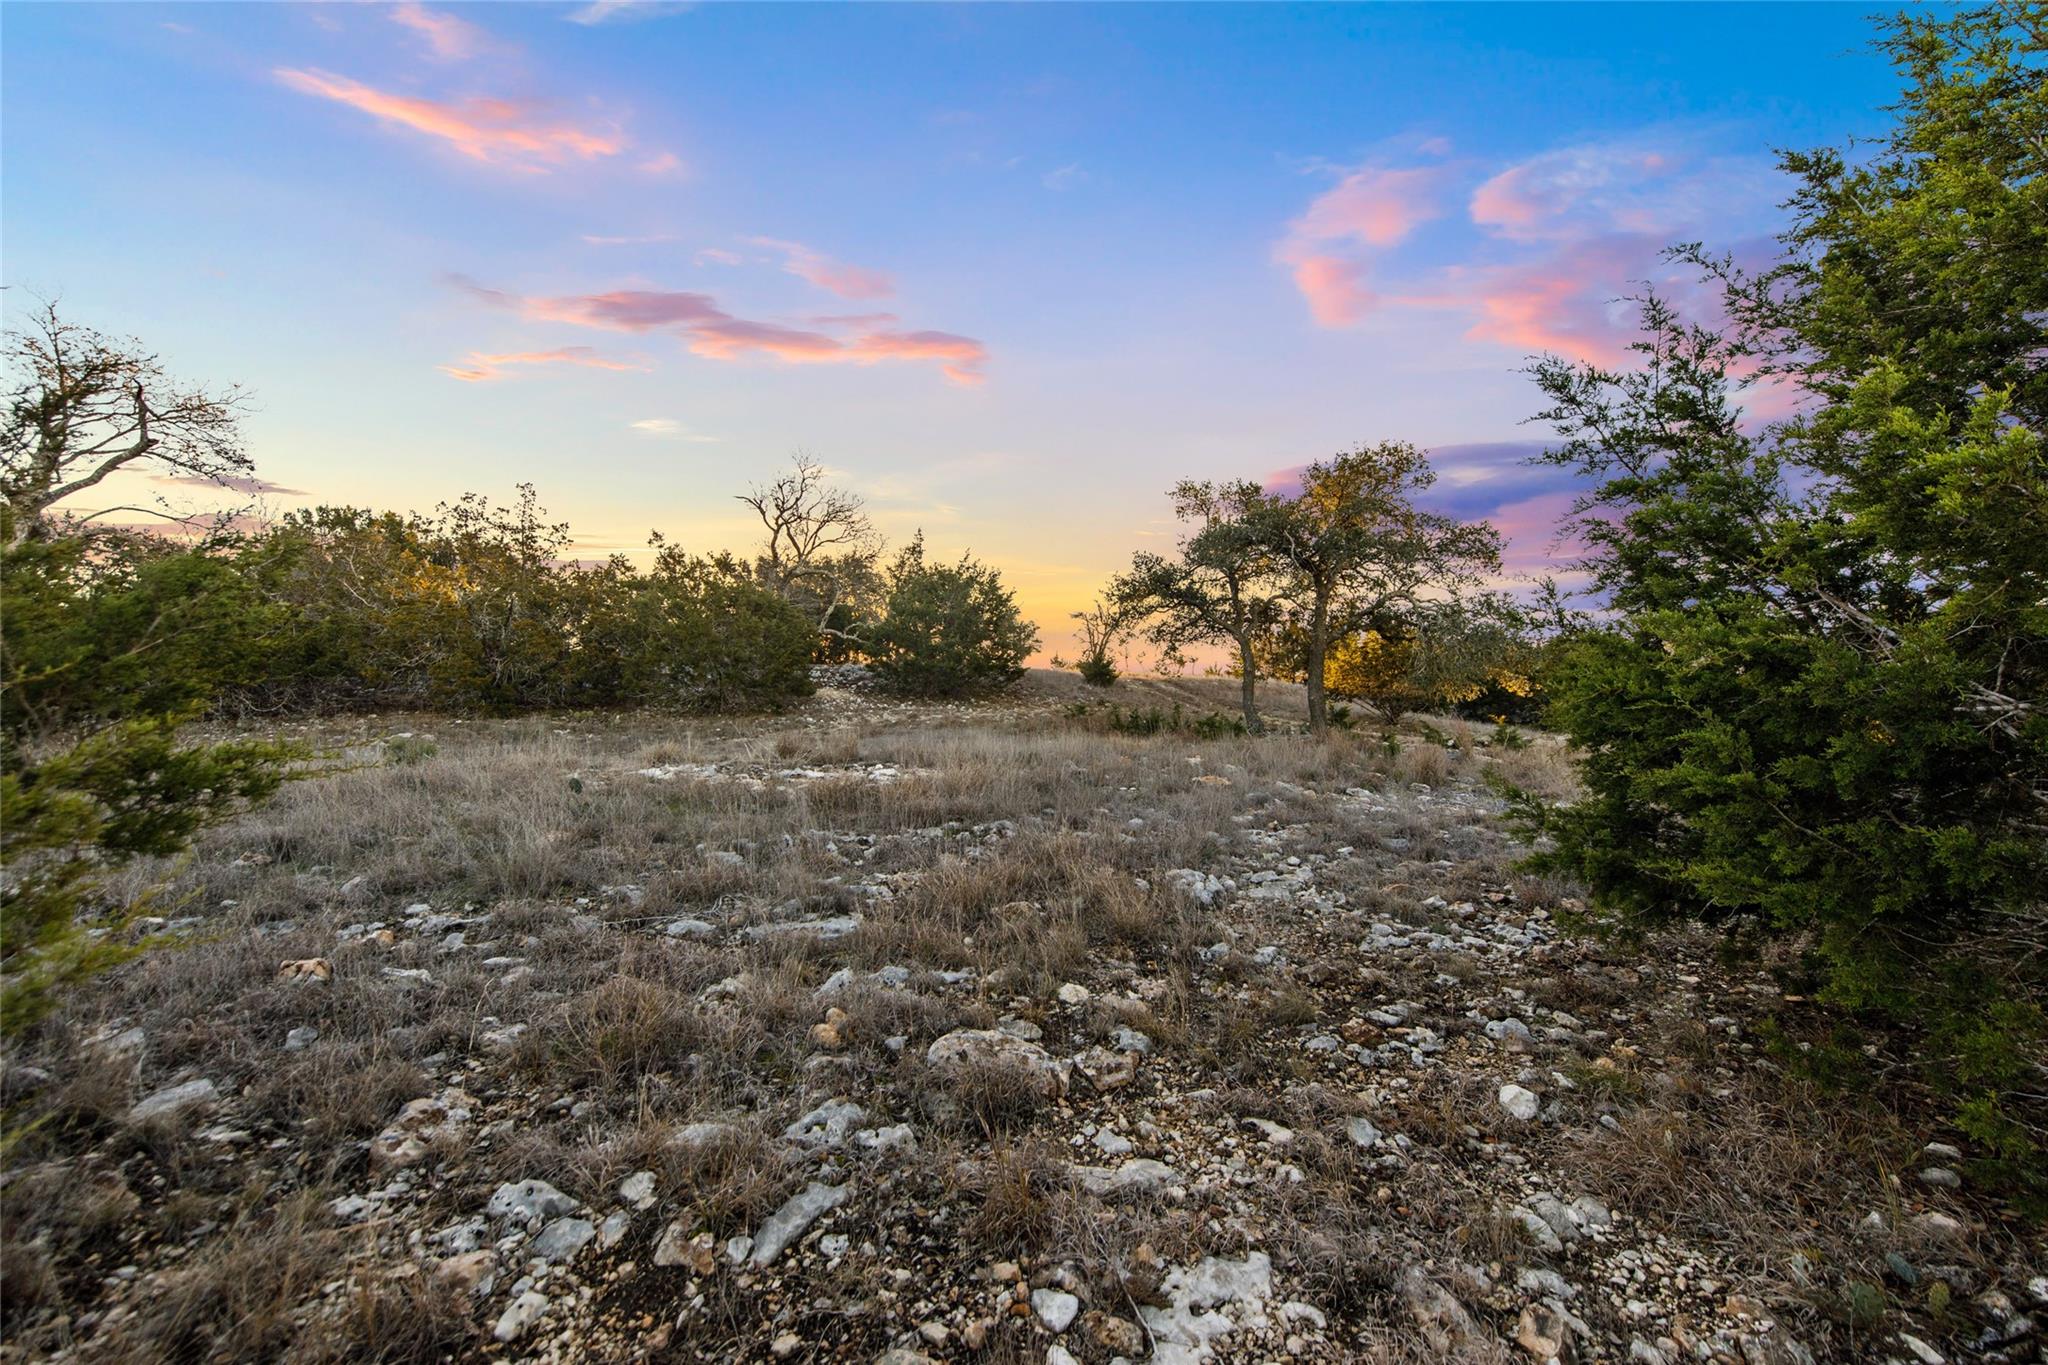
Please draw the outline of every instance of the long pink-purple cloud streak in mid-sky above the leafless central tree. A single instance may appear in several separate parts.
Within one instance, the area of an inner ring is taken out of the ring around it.
[[[887,325],[793,327],[778,321],[735,317],[717,299],[694,291],[614,289],[594,295],[522,297],[487,289],[465,276],[451,284],[494,307],[514,309],[537,321],[600,327],[606,332],[668,332],[692,354],[709,360],[768,356],[786,364],[932,362],[956,385],[983,381],[987,348],[969,336]]]

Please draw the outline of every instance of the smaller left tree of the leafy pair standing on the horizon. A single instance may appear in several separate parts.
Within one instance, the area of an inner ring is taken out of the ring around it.
[[[1257,643],[1278,618],[1268,591],[1272,555],[1253,534],[1266,493],[1257,483],[1190,479],[1174,487],[1171,499],[1174,516],[1196,526],[1182,538],[1180,557],[1139,555],[1110,583],[1110,598],[1145,620],[1145,636],[1167,659],[1182,659],[1190,645],[1235,647],[1245,729],[1260,735]]]

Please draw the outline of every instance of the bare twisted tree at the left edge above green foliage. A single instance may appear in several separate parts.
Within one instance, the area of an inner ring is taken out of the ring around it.
[[[131,465],[221,487],[254,469],[242,448],[240,389],[178,387],[139,342],[68,323],[55,303],[6,332],[4,364],[0,499],[14,544],[41,534],[66,497]],[[170,516],[121,505],[76,520],[109,512]]]

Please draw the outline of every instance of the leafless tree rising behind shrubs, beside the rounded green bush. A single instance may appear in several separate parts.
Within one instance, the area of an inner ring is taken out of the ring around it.
[[[883,538],[858,493],[801,450],[788,473],[739,493],[754,508],[768,540],[756,561],[762,581],[817,622],[819,634],[858,645],[856,608],[879,585],[874,561]]]

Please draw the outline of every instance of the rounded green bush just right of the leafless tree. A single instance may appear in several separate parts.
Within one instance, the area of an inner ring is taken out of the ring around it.
[[[920,534],[889,567],[889,608],[868,639],[874,673],[911,696],[971,696],[1024,675],[1038,628],[1018,612],[1001,575],[963,555],[926,561]]]

